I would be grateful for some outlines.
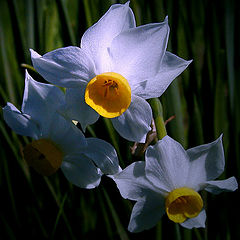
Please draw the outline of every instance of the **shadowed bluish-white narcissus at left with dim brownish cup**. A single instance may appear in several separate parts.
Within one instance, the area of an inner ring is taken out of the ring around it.
[[[64,104],[65,96],[59,88],[36,82],[26,72],[21,111],[7,103],[3,116],[17,134],[33,139],[24,147],[23,155],[38,173],[49,176],[61,168],[73,184],[94,188],[102,174],[121,170],[116,151],[103,140],[85,138],[58,113]]]

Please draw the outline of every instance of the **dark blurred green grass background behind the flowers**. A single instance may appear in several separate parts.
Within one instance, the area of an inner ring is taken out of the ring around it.
[[[0,0],[0,103],[19,109],[24,72],[31,69],[29,48],[39,54],[79,46],[84,31],[114,3],[110,0]],[[223,133],[226,157],[220,179],[240,176],[239,8],[234,0],[131,0],[137,25],[169,17],[168,50],[193,62],[160,97],[168,135],[185,148],[209,143]],[[156,43],[157,44],[157,43]],[[30,141],[16,135],[0,118],[0,239],[240,239],[239,191],[205,194],[206,229],[187,230],[167,217],[148,231],[127,226],[134,202],[124,200],[110,179],[85,190],[71,185],[61,170],[51,177],[29,169],[22,157]],[[86,136],[116,148],[121,167],[142,160],[134,143],[101,118]]]

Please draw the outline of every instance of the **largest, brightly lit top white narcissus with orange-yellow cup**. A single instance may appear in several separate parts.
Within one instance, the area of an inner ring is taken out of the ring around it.
[[[167,18],[136,27],[129,2],[114,4],[84,33],[80,48],[43,56],[31,50],[32,62],[47,81],[67,88],[68,116],[83,129],[101,115],[122,137],[144,142],[152,120],[145,99],[159,97],[191,62],[166,51],[168,35]]]

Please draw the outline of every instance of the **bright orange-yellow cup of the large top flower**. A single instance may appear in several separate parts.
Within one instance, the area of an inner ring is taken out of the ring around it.
[[[131,88],[122,75],[102,73],[88,83],[85,102],[103,117],[118,117],[131,103]]]

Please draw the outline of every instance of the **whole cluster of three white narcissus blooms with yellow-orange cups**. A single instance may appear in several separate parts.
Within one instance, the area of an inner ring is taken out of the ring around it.
[[[102,116],[123,138],[145,143],[152,122],[146,99],[160,97],[191,63],[166,51],[168,35],[167,17],[136,26],[129,2],[114,4],[84,33],[80,47],[43,56],[30,50],[34,68],[51,84],[33,80],[26,71],[21,111],[11,103],[3,108],[9,127],[32,139],[23,154],[38,173],[49,176],[61,168],[70,182],[88,189],[106,174],[123,198],[136,201],[132,232],[153,227],[165,212],[183,227],[204,227],[198,192],[237,189],[234,177],[213,181],[224,170],[222,136],[187,151],[165,136],[147,148],[145,161],[122,170],[109,143],[83,134]]]

